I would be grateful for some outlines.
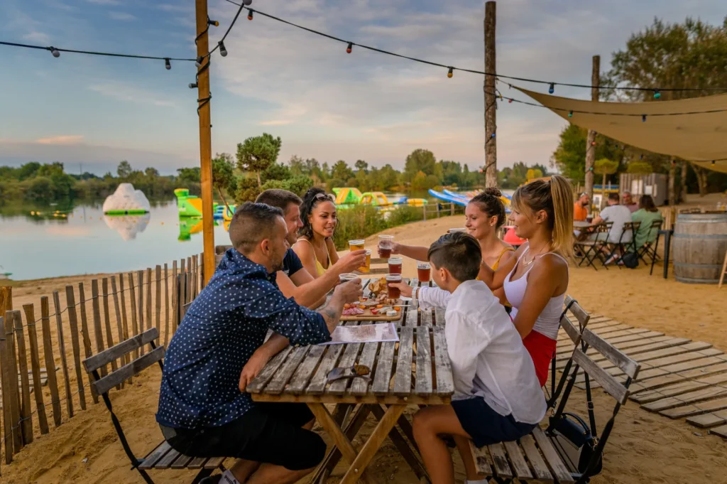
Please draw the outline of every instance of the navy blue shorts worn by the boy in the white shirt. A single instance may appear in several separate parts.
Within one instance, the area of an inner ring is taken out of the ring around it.
[[[477,447],[510,442],[528,435],[537,424],[522,424],[512,415],[502,416],[492,410],[481,397],[451,402],[462,429],[472,437]]]

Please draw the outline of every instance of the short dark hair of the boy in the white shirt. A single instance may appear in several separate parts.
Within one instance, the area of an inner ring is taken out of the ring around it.
[[[447,269],[459,282],[477,279],[482,263],[482,250],[475,237],[453,232],[439,237],[429,247],[427,258],[437,268]]]

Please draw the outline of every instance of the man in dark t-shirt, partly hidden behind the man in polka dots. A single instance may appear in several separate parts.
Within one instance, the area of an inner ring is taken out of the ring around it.
[[[293,245],[298,237],[298,229],[303,226],[300,221],[300,204],[302,204],[300,197],[292,191],[270,189],[258,195],[255,203],[265,203],[283,210],[288,226],[288,243]],[[283,260],[283,269],[278,271],[278,287],[286,298],[295,298],[301,306],[317,308],[326,302],[326,294],[338,284],[340,274],[355,271],[363,266],[365,258],[366,250],[346,253],[316,279],[303,267],[295,251],[289,248]]]

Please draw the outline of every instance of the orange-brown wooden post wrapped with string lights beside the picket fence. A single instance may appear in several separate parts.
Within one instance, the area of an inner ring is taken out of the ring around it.
[[[209,114],[209,37],[207,0],[196,0],[197,57],[204,57],[198,67],[197,95],[199,114],[199,159],[202,185],[202,234],[204,242],[204,282],[214,274],[214,218],[212,214],[212,125]],[[204,32],[204,33],[203,33]],[[201,35],[200,35],[201,34]]]

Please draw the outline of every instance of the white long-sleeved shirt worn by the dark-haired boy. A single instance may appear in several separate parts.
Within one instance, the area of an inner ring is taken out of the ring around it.
[[[419,289],[422,309],[446,308],[444,335],[454,376],[454,399],[482,397],[502,416],[523,424],[545,416],[545,395],[523,338],[505,307],[481,281],[466,281],[448,293]]]

